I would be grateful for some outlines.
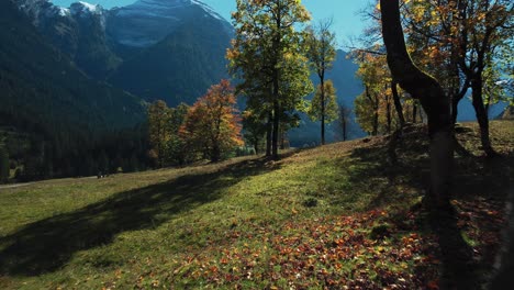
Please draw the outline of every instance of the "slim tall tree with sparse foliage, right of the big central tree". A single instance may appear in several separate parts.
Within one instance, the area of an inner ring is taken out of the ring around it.
[[[333,89],[333,83],[325,86],[326,70],[331,69],[336,58],[335,34],[331,32],[332,20],[320,21],[317,25],[306,30],[305,37],[308,46],[308,58],[311,66],[320,78],[320,86],[316,94],[312,100],[311,116],[315,116],[315,121],[321,121],[321,144],[325,144],[325,122],[334,121],[337,115],[337,103],[335,102],[335,93],[331,94],[327,89]],[[331,105],[327,108],[326,105]]]

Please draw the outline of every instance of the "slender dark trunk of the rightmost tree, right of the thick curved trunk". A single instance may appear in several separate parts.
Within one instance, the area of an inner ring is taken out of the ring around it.
[[[482,149],[485,152],[488,157],[494,157],[496,153],[494,152],[491,145],[491,140],[489,137],[489,118],[488,112],[483,105],[481,77],[477,77],[471,81],[471,90],[473,99],[472,103],[477,114],[477,121],[480,126],[480,141],[482,142]]]

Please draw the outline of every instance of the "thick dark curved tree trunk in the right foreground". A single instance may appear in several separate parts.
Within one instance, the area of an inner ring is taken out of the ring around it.
[[[400,86],[420,99],[428,116],[431,138],[431,190],[428,201],[436,209],[449,204],[450,174],[454,159],[450,103],[440,85],[420,70],[406,51],[398,0],[380,0],[382,35],[388,65]]]

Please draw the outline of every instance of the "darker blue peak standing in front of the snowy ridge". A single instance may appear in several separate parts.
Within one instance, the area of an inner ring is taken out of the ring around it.
[[[225,23],[200,7],[190,7],[188,13],[191,18],[124,62],[108,80],[145,100],[163,99],[175,107],[193,103],[210,86],[228,78],[224,56],[231,35]]]

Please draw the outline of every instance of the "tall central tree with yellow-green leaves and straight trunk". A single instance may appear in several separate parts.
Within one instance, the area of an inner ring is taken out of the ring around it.
[[[242,82],[252,110],[267,110],[267,155],[278,158],[281,118],[312,91],[298,26],[310,20],[297,0],[237,0],[232,14],[235,40],[227,49],[231,72]]]

